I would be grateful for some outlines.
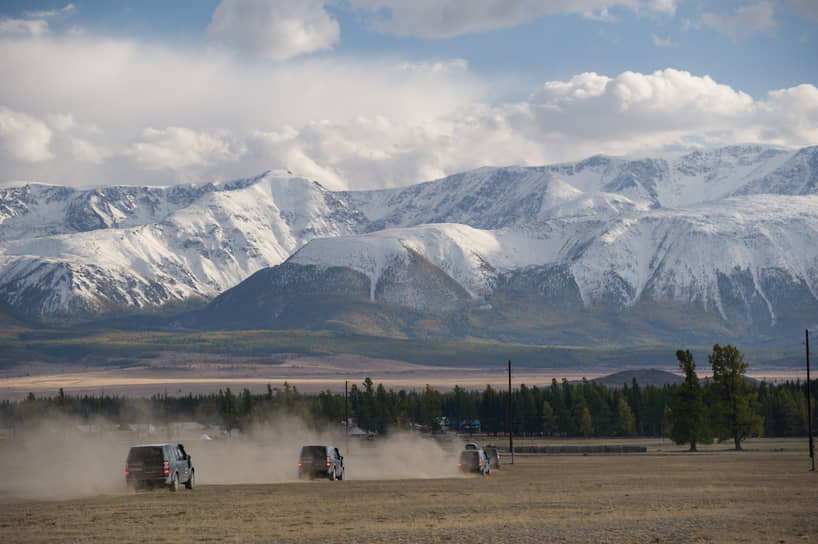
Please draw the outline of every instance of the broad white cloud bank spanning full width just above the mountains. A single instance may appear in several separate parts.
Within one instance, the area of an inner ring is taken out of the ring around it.
[[[168,184],[286,169],[333,189],[375,188],[595,153],[818,142],[811,84],[753,98],[681,70],[582,73],[499,101],[504,89],[460,59],[236,63],[49,36],[0,48],[0,182]]]

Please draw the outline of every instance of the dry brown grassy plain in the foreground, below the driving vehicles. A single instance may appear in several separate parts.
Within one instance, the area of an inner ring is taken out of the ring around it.
[[[808,468],[786,452],[518,455],[486,478],[0,497],[0,541],[804,543],[818,540]]]

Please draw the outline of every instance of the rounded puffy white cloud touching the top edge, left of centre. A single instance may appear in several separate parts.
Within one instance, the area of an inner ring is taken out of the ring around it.
[[[222,0],[207,35],[230,49],[283,61],[332,49],[340,28],[323,0]]]

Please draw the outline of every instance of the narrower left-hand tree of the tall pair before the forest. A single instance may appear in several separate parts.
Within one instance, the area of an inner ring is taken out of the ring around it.
[[[676,352],[679,368],[685,381],[673,393],[674,404],[670,411],[670,438],[677,444],[690,443],[690,451],[696,451],[698,442],[709,440],[706,411],[696,363],[690,351]]]

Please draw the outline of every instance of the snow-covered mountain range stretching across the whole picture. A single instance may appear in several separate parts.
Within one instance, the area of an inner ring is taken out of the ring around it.
[[[170,188],[29,184],[0,189],[0,300],[94,313],[230,289],[211,304],[229,315],[261,270],[248,280],[258,300],[344,293],[438,314],[513,300],[620,317],[670,308],[774,335],[818,323],[816,240],[818,147],[596,156],[379,191],[272,173]]]

